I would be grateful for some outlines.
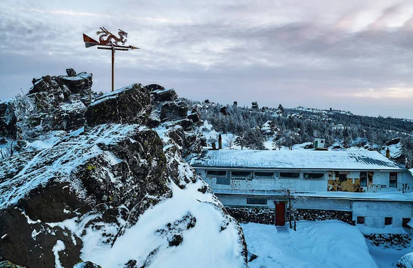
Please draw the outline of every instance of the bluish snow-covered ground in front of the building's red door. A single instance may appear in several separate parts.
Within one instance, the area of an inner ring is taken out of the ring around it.
[[[259,256],[251,268],[376,268],[357,227],[339,220],[297,223],[297,231],[246,223],[248,251]]]

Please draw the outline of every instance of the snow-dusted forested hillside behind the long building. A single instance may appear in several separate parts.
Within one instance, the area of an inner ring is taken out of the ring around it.
[[[326,138],[326,146],[381,150],[392,139],[400,138],[403,157],[399,163],[413,166],[413,122],[406,119],[358,116],[336,110],[284,109],[282,105],[258,108],[254,103],[255,108],[251,109],[209,101],[187,102],[195,105],[202,120],[211,123],[217,132],[237,135],[235,144],[242,147],[262,150],[264,141],[272,138],[275,150],[313,142],[314,138]]]

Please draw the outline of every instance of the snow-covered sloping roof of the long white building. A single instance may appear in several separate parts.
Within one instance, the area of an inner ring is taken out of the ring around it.
[[[317,150],[204,150],[193,167],[266,169],[404,170],[379,152]]]

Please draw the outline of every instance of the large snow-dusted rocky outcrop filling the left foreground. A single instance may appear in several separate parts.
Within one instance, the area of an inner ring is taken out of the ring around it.
[[[171,252],[201,252],[212,237],[233,255],[222,258],[221,249],[211,247],[217,258],[201,254],[194,260],[247,266],[242,229],[182,159],[200,150],[200,140],[180,100],[151,101],[149,90],[134,84],[88,105],[82,90],[59,99],[64,90],[58,81],[65,79],[42,79],[28,98],[50,95],[56,103],[48,101],[43,114],[34,114],[44,118],[62,107],[71,114],[76,105],[69,104],[82,103],[78,118],[87,127],[43,128],[51,143],[0,162],[1,260],[31,268],[176,267],[182,260]],[[165,103],[179,107],[166,112],[176,120],[164,117],[152,130],[146,124],[160,117]]]

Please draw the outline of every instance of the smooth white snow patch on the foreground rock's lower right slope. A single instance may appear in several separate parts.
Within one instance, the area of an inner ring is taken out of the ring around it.
[[[129,260],[137,260],[137,266],[141,267],[156,250],[156,258],[145,267],[244,267],[235,222],[220,231],[224,215],[215,208],[212,194],[197,191],[201,184],[198,181],[180,189],[171,183],[173,197],[147,209],[113,247],[101,242],[98,230],[87,228],[82,238],[81,258],[103,268],[121,267]],[[188,213],[195,216],[195,227],[182,231],[181,245],[168,247],[167,240],[157,230]]]

